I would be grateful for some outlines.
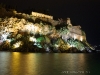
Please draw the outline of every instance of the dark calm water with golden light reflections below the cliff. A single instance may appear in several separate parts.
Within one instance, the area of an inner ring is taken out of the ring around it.
[[[100,75],[100,54],[0,52],[0,75]]]

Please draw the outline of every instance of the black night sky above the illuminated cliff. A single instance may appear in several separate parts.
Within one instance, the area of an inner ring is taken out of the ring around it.
[[[47,10],[54,18],[71,18],[73,25],[80,25],[86,32],[90,44],[100,44],[100,1],[99,0],[0,0],[17,10]]]

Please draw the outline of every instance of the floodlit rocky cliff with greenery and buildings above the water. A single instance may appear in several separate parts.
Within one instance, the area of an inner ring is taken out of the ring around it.
[[[8,11],[5,12],[6,15]],[[86,47],[91,48],[81,27],[73,26],[69,18],[65,23],[62,20],[53,20],[53,16],[37,12],[32,12],[31,15],[17,13],[15,10],[11,12],[12,15],[3,15],[0,18],[1,49],[20,51],[25,47],[26,50],[33,51],[42,48],[43,51],[64,52],[71,47],[78,51],[83,51]],[[59,29],[55,27],[58,25]]]

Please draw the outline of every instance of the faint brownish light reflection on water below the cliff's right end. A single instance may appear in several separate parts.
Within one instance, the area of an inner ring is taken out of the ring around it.
[[[86,75],[85,72],[87,71],[87,65],[84,54],[60,54],[57,56],[57,58],[58,60],[54,61],[53,63],[56,64],[55,68],[61,68],[62,74],[67,73],[68,75]]]

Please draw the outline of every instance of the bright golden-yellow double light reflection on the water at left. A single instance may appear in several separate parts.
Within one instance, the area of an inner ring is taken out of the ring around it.
[[[11,75],[37,75],[35,54],[13,52],[11,62]]]

